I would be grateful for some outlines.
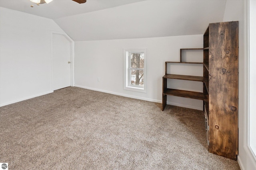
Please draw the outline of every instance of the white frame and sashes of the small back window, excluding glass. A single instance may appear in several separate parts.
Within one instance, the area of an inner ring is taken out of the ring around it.
[[[147,50],[146,49],[124,49],[124,90],[130,90],[134,92],[142,92],[146,93],[146,80],[147,80],[147,73],[146,73],[146,58],[147,58]],[[130,61],[131,56],[130,53],[144,53],[144,68],[130,68]],[[143,86],[136,86],[131,84],[131,76],[130,70],[143,70]]]

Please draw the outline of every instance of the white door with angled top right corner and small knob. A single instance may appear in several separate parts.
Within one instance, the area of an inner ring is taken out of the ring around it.
[[[53,90],[71,86],[70,41],[64,35],[52,35]]]

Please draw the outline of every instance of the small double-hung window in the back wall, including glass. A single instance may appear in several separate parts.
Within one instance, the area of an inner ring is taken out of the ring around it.
[[[124,90],[146,93],[146,49],[124,49]]]

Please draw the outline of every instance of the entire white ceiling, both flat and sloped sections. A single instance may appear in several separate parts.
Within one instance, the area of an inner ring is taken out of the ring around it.
[[[2,1],[14,0],[0,0],[8,8]],[[203,34],[223,20],[225,6],[226,0],[54,0],[34,7],[40,12],[23,12],[52,18],[74,41],[90,41]]]

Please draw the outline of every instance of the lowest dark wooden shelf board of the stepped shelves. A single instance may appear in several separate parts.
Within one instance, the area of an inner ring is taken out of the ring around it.
[[[176,90],[176,89],[167,88],[164,90],[163,94],[170,95],[170,96],[179,96],[183,98],[204,100],[204,93],[201,93],[201,92],[191,92],[186,90]]]

